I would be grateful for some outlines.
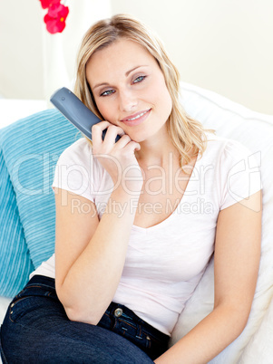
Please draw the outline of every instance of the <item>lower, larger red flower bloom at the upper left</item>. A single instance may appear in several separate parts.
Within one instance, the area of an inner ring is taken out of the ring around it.
[[[67,6],[60,3],[50,5],[48,14],[44,16],[47,31],[51,34],[62,33],[68,13],[69,9]]]

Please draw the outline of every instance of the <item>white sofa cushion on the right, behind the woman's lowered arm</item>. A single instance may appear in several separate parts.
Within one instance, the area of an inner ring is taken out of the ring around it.
[[[200,120],[206,128],[215,129],[220,137],[238,140],[253,153],[258,153],[256,156],[260,153],[262,252],[255,298],[246,329],[210,363],[268,364],[273,358],[273,117],[249,110],[215,92],[185,82],[180,86],[181,103],[190,116]],[[212,311],[213,281],[212,259],[180,314],[171,335],[171,345]],[[269,324],[268,320],[271,320]]]

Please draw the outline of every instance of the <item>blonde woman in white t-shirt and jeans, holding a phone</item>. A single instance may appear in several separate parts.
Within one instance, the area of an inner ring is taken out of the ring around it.
[[[182,110],[179,73],[131,16],[88,30],[75,91],[102,122],[59,158],[55,255],[9,307],[3,359],[207,363],[244,329],[255,292],[260,180],[233,169],[250,151]],[[214,309],[168,349],[212,254]]]

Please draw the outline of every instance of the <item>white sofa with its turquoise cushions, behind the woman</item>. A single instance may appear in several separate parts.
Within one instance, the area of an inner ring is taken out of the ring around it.
[[[217,135],[249,148],[262,177],[262,249],[258,284],[246,329],[210,363],[273,362],[273,117],[181,82],[180,100]],[[0,321],[29,274],[54,253],[54,167],[81,133],[59,111],[43,110],[0,129]],[[251,172],[251,163],[249,168]],[[253,168],[253,173],[257,168]],[[171,335],[171,345],[213,307],[213,259]]]

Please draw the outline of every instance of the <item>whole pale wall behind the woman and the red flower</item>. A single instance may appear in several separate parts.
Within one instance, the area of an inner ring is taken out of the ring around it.
[[[70,80],[87,26],[109,14],[129,13],[161,36],[183,81],[273,114],[271,0],[68,0],[67,5],[71,12],[59,35]],[[43,16],[38,0],[0,0],[0,95],[6,98],[48,97],[44,70],[52,58],[43,46],[49,35]]]

